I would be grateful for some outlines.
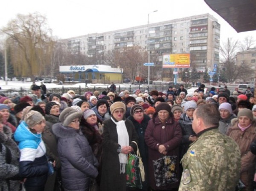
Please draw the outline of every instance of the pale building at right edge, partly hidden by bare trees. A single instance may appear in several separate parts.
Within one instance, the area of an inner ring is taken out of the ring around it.
[[[255,65],[256,65],[256,48],[249,48],[245,51],[238,52],[236,54],[236,64],[242,65],[242,64],[248,64],[251,68],[250,74],[248,74],[247,79],[239,79],[241,82],[248,82],[253,83],[254,82],[254,72],[255,72]]]

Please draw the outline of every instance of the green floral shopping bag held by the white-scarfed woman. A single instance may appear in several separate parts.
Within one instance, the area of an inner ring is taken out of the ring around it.
[[[137,143],[132,141],[132,143]],[[126,185],[128,187],[142,189],[142,182],[145,181],[145,171],[143,162],[140,157],[140,151],[137,145],[137,154],[128,154],[128,162],[126,164]]]

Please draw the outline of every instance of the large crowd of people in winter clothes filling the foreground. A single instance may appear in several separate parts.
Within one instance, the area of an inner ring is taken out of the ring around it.
[[[1,92],[1,191],[235,191],[239,182],[253,191],[254,92],[204,88],[60,95],[33,84],[26,96]],[[142,189],[126,185],[128,154],[137,149]],[[154,161],[164,156],[175,158],[177,181],[159,185]]]

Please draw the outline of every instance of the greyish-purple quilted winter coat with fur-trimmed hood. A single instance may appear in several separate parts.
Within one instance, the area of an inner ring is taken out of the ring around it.
[[[64,189],[88,191],[90,178],[96,178],[98,162],[90,145],[80,130],[52,125],[58,138],[58,154],[61,159],[61,176]]]

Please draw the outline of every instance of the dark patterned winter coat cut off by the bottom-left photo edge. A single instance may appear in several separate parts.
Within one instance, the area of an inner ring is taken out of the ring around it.
[[[1,191],[18,191],[20,150],[12,140],[12,131],[6,125],[0,132],[0,188]]]

